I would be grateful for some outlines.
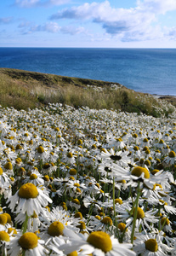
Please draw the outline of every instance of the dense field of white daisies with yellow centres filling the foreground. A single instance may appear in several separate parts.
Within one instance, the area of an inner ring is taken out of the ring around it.
[[[1,255],[176,255],[175,113],[0,108]]]

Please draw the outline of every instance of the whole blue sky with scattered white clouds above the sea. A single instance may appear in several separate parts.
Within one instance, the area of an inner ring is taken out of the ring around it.
[[[0,10],[0,47],[176,48],[176,0],[8,0]]]

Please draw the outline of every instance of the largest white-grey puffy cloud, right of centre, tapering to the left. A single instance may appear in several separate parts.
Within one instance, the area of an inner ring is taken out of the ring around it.
[[[139,8],[113,9],[108,1],[102,3],[84,3],[78,7],[64,9],[51,16],[51,20],[57,19],[81,19],[92,20],[101,24],[105,32],[116,35],[141,33],[150,23],[156,20],[156,16],[150,12],[144,12]]]

